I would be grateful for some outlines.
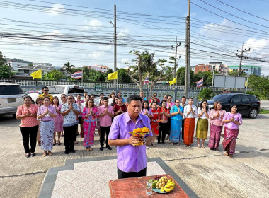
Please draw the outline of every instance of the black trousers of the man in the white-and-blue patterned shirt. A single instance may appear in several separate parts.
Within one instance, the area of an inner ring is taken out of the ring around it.
[[[69,127],[64,127],[64,146],[65,151],[73,151],[76,139],[76,131],[78,124],[74,124]]]

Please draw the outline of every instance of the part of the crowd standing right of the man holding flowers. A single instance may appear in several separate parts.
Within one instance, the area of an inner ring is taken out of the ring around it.
[[[140,93],[140,96],[142,93]],[[232,156],[235,151],[236,138],[239,133],[239,125],[242,124],[242,115],[236,113],[237,107],[233,105],[231,112],[222,110],[219,102],[214,103],[214,108],[209,110],[207,100],[202,100],[199,107],[193,105],[193,98],[182,97],[171,102],[171,95],[164,95],[160,102],[156,93],[149,102],[146,100],[142,103],[141,113],[147,115],[151,120],[151,129],[154,135],[153,141],[147,145],[155,147],[156,136],[158,144],[164,144],[166,136],[171,141],[171,145],[183,143],[191,147],[195,133],[195,118],[197,147],[205,148],[205,139],[209,129],[210,120],[210,139],[208,146],[211,150],[219,151],[220,135],[224,125],[223,148],[227,151],[224,156]],[[201,140],[201,144],[200,144]]]

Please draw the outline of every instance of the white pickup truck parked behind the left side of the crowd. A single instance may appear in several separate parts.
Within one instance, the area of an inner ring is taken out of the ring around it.
[[[74,95],[76,99],[76,95],[81,94],[83,97],[84,87],[76,86],[76,85],[55,85],[55,86],[47,86],[49,88],[50,95],[57,96],[59,101],[61,100],[61,95],[64,93],[65,95]],[[42,90],[38,91],[38,93],[30,93],[30,97],[32,97],[32,103],[35,103],[38,95],[42,94]]]

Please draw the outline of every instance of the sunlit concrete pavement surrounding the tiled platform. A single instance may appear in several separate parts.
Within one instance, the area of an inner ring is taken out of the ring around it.
[[[263,106],[269,107],[269,100],[262,101]],[[157,144],[147,156],[161,157],[199,197],[268,197],[268,120],[269,115],[258,115],[256,120],[244,117],[234,158],[224,157],[223,150],[197,148],[196,141],[192,148]],[[35,158],[25,158],[18,124],[9,115],[0,116],[1,197],[38,197],[47,170],[64,165],[67,159],[116,156],[115,147],[99,151],[96,136],[92,152],[84,151],[79,138],[74,154],[64,155],[62,144],[54,147],[53,156],[42,157],[37,147]]]

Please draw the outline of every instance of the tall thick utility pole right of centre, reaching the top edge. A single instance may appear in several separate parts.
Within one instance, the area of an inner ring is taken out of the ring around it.
[[[185,40],[185,97],[188,98],[190,86],[190,0],[188,0],[188,16],[186,18],[186,40]]]

